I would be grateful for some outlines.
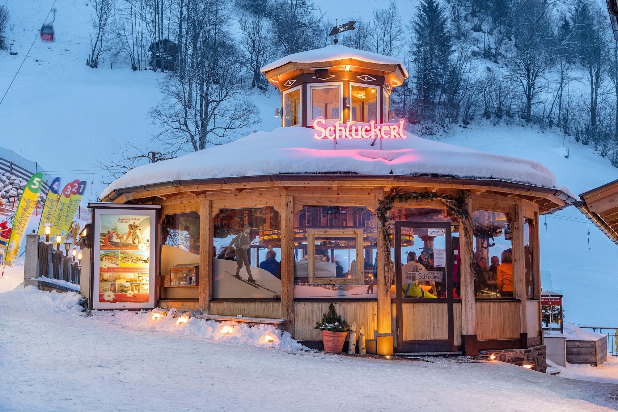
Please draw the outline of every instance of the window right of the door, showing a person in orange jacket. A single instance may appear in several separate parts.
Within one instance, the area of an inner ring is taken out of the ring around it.
[[[514,296],[512,227],[502,212],[473,214],[475,292],[477,298]]]

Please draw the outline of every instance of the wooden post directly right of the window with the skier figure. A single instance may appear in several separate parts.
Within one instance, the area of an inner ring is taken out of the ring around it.
[[[281,317],[294,336],[294,196],[281,198]]]

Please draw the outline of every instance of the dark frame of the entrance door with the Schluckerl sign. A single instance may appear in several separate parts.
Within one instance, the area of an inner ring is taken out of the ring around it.
[[[443,229],[444,230],[444,254],[445,254],[445,273],[446,276],[446,290],[451,290],[451,293],[447,293],[446,298],[433,299],[433,298],[404,298],[400,290],[401,284],[401,228],[426,228],[426,229]],[[451,236],[451,222],[395,222],[394,237],[395,237],[395,304],[397,314],[397,352],[449,352],[454,351],[455,348],[455,333],[454,333],[454,310],[453,310],[453,280],[452,280],[452,236]],[[404,341],[403,337],[403,303],[446,303],[447,304],[447,327],[448,338],[433,339],[433,340],[408,340]]]

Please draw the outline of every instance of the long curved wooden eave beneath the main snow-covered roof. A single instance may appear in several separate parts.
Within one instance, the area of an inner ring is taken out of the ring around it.
[[[454,177],[433,176],[395,176],[395,175],[341,175],[341,174],[280,174],[249,177],[227,177],[219,179],[174,180],[170,182],[153,183],[136,187],[126,187],[113,190],[104,201],[127,203],[145,201],[148,198],[167,198],[179,196],[182,193],[197,196],[200,193],[235,190],[255,190],[265,188],[294,187],[332,187],[339,183],[341,187],[368,186],[402,187],[404,190],[415,188],[431,188],[431,190],[470,190],[473,193],[483,193],[485,190],[496,191],[503,195],[516,195],[539,205],[539,212],[545,214],[565,208],[573,198],[564,191],[552,188],[538,187],[524,183],[509,182],[498,179],[460,179]]]

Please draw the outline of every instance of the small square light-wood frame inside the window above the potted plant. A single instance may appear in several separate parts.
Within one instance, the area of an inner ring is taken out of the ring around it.
[[[315,238],[345,236],[356,238],[356,274],[354,277],[315,277]],[[310,285],[362,285],[363,284],[363,230],[362,229],[309,229],[307,230],[307,260]],[[359,262],[361,264],[359,264]]]

